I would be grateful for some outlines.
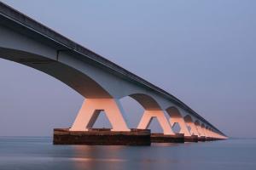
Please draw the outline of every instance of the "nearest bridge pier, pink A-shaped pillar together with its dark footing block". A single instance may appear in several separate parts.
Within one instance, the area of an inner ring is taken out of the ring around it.
[[[105,111],[113,128],[92,128]],[[117,99],[85,99],[71,128],[55,128],[54,144],[150,145],[150,130],[129,129]]]

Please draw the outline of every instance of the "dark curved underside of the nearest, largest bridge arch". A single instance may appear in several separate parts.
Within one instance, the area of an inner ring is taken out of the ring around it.
[[[110,94],[94,79],[69,65],[48,57],[13,49],[0,48],[0,58],[32,67],[73,88],[84,98],[111,98]]]

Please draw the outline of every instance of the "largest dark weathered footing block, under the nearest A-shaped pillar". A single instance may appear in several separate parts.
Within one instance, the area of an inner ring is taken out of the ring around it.
[[[150,145],[150,130],[131,129],[131,132],[113,132],[98,128],[89,131],[69,131],[68,128],[54,129],[54,144],[84,145]]]

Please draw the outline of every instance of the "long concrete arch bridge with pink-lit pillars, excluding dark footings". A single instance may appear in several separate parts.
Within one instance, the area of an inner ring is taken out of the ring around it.
[[[175,138],[183,134],[184,139],[227,139],[217,127],[172,94],[1,2],[0,58],[43,71],[84,96],[72,127],[62,131],[56,129],[56,132],[60,131],[57,133],[92,132],[97,116],[105,111],[112,125],[108,134],[145,133],[152,119],[156,118],[163,129],[162,137]],[[144,108],[135,129],[127,127],[119,103],[119,99],[126,96]],[[175,124],[180,127],[179,133],[172,130]],[[97,129],[93,132],[105,131]],[[151,137],[155,135],[151,134]]]

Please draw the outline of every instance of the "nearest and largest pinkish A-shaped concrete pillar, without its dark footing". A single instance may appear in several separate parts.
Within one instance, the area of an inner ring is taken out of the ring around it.
[[[123,118],[119,101],[116,99],[85,99],[70,131],[88,131],[101,111],[105,111],[113,127],[112,131],[130,131]]]

